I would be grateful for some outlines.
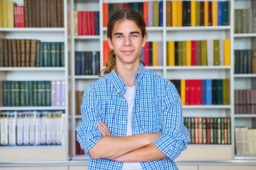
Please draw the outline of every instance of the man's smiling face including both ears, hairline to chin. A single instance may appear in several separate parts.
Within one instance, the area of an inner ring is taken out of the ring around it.
[[[145,46],[146,35],[132,20],[122,20],[115,23],[112,39],[108,37],[108,44],[116,54],[116,64],[134,64],[139,62],[141,48]]]

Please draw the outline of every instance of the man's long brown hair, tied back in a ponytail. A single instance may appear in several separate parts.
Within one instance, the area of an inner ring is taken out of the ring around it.
[[[144,38],[144,35],[147,35],[146,24],[143,17],[141,17],[141,15],[134,9],[128,8],[128,9],[118,10],[110,17],[107,24],[107,37],[109,37],[112,40],[112,33],[113,33],[113,28],[115,23],[125,19],[132,20],[136,23],[136,25],[141,31],[142,38]],[[139,60],[145,66],[145,64],[141,61],[141,56],[139,56]],[[108,53],[108,62],[107,62],[106,68],[102,69],[99,72],[98,76],[102,77],[105,74],[110,73],[112,69],[114,69],[117,72],[116,54],[114,53],[113,49],[111,49]]]

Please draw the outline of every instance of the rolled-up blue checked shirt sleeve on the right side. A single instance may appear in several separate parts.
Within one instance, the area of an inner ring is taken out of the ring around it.
[[[183,124],[181,101],[175,86],[168,82],[163,104],[162,131],[154,145],[175,160],[187,148],[189,133]]]

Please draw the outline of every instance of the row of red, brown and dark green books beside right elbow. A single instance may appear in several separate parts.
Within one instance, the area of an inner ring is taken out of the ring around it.
[[[190,144],[231,144],[230,118],[184,118]]]

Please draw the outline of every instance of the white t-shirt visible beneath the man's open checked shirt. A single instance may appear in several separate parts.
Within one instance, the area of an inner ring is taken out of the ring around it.
[[[127,87],[124,93],[124,98],[128,104],[128,114],[127,114],[127,128],[126,136],[132,136],[132,118],[133,118],[133,105],[135,97],[135,87]],[[140,162],[124,162],[122,170],[142,170]]]

